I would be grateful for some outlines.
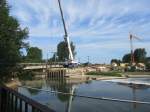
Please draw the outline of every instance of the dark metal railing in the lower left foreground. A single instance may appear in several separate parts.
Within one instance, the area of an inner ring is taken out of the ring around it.
[[[0,112],[54,112],[5,86],[0,86]]]

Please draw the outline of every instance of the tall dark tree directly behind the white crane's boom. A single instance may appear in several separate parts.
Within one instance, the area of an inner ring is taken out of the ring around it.
[[[75,52],[75,46],[73,45],[73,42],[71,42],[71,49],[73,52],[73,55],[76,55]],[[58,56],[58,61],[65,61],[69,59],[69,50],[67,47],[67,43],[65,41],[60,42],[57,45],[57,56]]]

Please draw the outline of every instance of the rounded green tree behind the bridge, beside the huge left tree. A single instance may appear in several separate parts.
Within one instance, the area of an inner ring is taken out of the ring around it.
[[[27,50],[26,56],[27,62],[41,62],[42,61],[42,50],[38,47],[30,47]]]

